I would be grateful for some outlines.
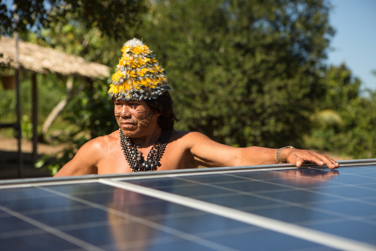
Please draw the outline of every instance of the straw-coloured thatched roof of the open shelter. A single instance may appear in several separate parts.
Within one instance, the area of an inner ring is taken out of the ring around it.
[[[105,79],[110,76],[106,65],[86,61],[59,50],[18,40],[18,63],[20,67],[36,73],[55,73],[65,76],[85,76]],[[17,68],[15,62],[15,40],[1,36],[0,65]]]

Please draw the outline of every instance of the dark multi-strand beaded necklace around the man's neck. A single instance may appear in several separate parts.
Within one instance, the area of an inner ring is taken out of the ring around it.
[[[157,167],[161,166],[159,160],[161,160],[162,154],[170,140],[171,134],[174,128],[165,131],[162,129],[161,137],[150,149],[147,159],[141,155],[141,151],[137,150],[137,146],[133,141],[123,134],[123,131],[119,128],[119,138],[121,151],[123,151],[124,157],[127,160],[132,172],[154,171]]]

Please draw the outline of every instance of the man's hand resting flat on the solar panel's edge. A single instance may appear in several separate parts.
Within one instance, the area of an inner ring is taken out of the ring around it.
[[[304,163],[316,163],[319,166],[327,165],[330,169],[336,169],[340,166],[335,160],[317,152],[299,150],[293,148],[284,148],[280,152],[284,163],[291,163],[297,167],[302,167]]]

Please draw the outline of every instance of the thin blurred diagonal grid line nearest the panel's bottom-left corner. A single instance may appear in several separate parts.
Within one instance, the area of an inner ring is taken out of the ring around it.
[[[99,248],[97,246],[94,246],[94,245],[91,245],[90,243],[87,243],[83,240],[80,240],[74,236],[71,236],[69,234],[66,234],[60,230],[57,230],[56,228],[53,228],[53,227],[50,227],[49,225],[46,225],[46,224],[43,224],[42,222],[39,222],[39,221],[36,221],[34,219],[31,219],[23,214],[20,214],[16,211],[13,211],[9,208],[6,208],[6,207],[3,207],[2,205],[0,205],[0,210],[2,211],[5,211],[6,213],[9,213],[11,214],[12,216],[15,216],[23,221],[26,221],[32,225],[35,225],[35,227],[38,227],[48,233],[51,233],[61,239],[64,239],[70,243],[73,243],[74,245],[77,245],[79,246],[80,248],[83,248],[87,251],[105,251],[104,249],[102,248]]]

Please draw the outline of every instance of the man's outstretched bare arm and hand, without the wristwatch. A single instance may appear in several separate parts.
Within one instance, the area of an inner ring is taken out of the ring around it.
[[[198,132],[190,132],[190,151],[196,161],[203,166],[250,166],[261,164],[277,164],[277,149],[251,146],[234,148],[222,145]],[[280,158],[284,163],[291,163],[301,167],[304,163],[327,165],[330,169],[339,167],[332,158],[316,152],[284,148],[280,151]]]

